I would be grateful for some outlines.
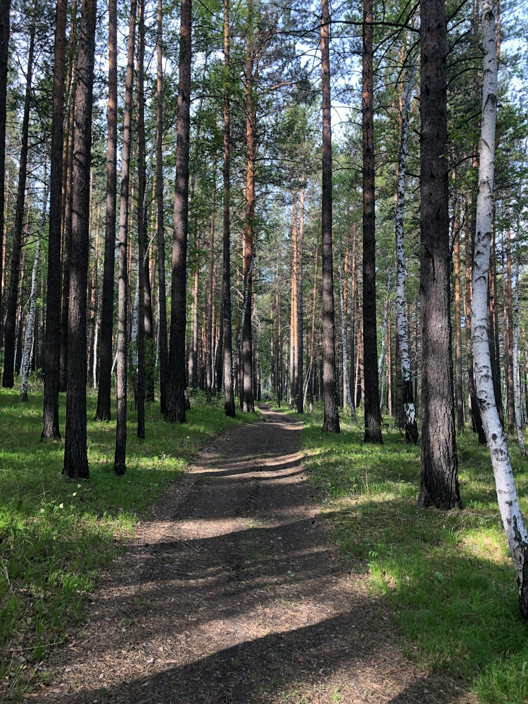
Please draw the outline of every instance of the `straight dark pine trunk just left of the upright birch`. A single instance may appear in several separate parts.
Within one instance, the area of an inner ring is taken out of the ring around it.
[[[376,325],[376,213],[374,191],[374,75],[372,0],[363,0],[363,375],[365,442],[382,443]],[[367,24],[370,23],[370,24]]]

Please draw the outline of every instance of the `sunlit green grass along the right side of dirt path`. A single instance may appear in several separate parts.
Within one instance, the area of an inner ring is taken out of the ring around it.
[[[394,613],[403,649],[425,667],[462,681],[486,704],[528,700],[528,624],[498,517],[489,453],[470,431],[458,436],[464,509],[417,507],[419,448],[384,431],[365,446],[341,418],[323,434],[322,413],[305,415],[303,448],[351,569]],[[515,481],[528,516],[528,465],[510,441]]]

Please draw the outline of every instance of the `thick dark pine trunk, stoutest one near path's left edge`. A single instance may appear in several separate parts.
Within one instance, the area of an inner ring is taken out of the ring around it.
[[[191,105],[191,0],[182,0],[176,143],[176,192],[172,239],[172,299],[165,420],[185,422],[185,308],[189,213],[189,127]]]

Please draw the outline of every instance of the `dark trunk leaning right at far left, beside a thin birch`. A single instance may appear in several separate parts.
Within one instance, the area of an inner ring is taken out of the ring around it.
[[[24,115],[22,119],[22,140],[20,144],[20,161],[18,168],[18,187],[15,207],[15,227],[13,230],[13,249],[11,250],[11,275],[9,277],[9,292],[7,298],[6,327],[4,329],[4,376],[2,386],[12,389],[14,383],[13,371],[15,365],[16,311],[18,304],[18,278],[20,276],[20,253],[22,251],[22,232],[24,224],[25,183],[27,176],[28,130],[30,125],[30,104],[32,94],[33,54],[34,54],[34,21],[30,27],[30,49],[27,56],[27,77],[24,98]],[[4,143],[1,144],[2,150]],[[4,183],[1,184],[4,189]]]

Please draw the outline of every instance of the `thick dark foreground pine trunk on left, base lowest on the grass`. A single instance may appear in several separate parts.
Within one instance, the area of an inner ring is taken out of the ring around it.
[[[72,251],[68,306],[68,384],[63,474],[87,478],[86,290],[88,285],[89,187],[96,0],[82,0],[73,160]]]

